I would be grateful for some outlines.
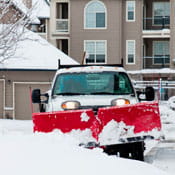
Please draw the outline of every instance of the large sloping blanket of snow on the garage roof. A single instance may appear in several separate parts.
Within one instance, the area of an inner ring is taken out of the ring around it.
[[[79,64],[37,33],[27,30],[23,37],[26,39],[18,43],[15,55],[0,64],[0,69],[56,70],[58,59],[64,65]]]

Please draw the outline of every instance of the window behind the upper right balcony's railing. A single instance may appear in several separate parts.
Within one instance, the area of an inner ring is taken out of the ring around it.
[[[154,2],[153,16],[155,25],[170,24],[170,3],[169,2]]]

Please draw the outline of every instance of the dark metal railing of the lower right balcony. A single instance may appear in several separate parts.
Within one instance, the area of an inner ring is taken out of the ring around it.
[[[170,55],[155,55],[143,57],[144,69],[169,68]]]

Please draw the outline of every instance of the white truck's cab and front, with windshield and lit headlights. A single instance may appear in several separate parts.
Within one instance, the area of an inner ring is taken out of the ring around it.
[[[118,66],[70,66],[57,70],[51,89],[41,94],[35,89],[33,103],[40,104],[41,112],[93,109],[135,104],[140,101],[130,77]],[[147,93],[146,98],[154,97]],[[154,93],[152,93],[154,94]],[[46,100],[41,101],[41,96]]]

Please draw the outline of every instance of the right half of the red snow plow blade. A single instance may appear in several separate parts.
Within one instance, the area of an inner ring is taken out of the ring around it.
[[[98,117],[104,127],[111,120],[134,126],[134,133],[161,129],[159,107],[157,102],[145,102],[123,107],[101,108]]]

